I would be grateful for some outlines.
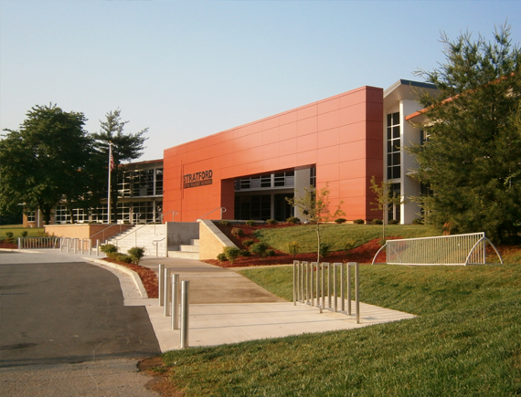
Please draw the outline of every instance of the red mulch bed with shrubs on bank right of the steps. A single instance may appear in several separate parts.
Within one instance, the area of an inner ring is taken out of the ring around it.
[[[242,245],[242,241],[246,239],[252,239],[255,242],[258,242],[257,238],[255,238],[255,231],[259,229],[265,228],[282,228],[282,227],[292,227],[295,225],[291,224],[277,224],[277,225],[229,225],[222,226],[217,224],[218,228],[225,234],[229,239],[239,248],[246,248]],[[313,225],[309,225],[313,227]],[[239,227],[244,232],[242,237],[236,237],[231,234],[231,229],[234,227]],[[392,237],[389,236],[388,239],[397,239],[401,237]],[[380,249],[380,245],[378,242],[379,238],[375,238],[364,244],[363,246],[358,246],[355,249],[352,249],[349,255],[346,255],[344,251],[336,251],[329,253],[328,256],[322,258],[323,262],[358,262],[358,263],[371,263],[373,261],[373,257],[377,254],[378,249]],[[284,252],[274,250],[275,256],[261,258],[260,256],[256,256],[251,254],[251,256],[239,256],[238,259],[235,260],[233,264],[229,263],[229,261],[221,262],[218,259],[207,259],[203,262],[206,262],[211,265],[217,265],[221,267],[240,267],[240,266],[265,266],[265,265],[285,265],[291,264],[293,260],[307,261],[307,262],[315,262],[316,254],[315,253],[307,253],[307,254],[298,254],[293,258],[293,256],[286,254]],[[377,262],[385,262],[386,256],[384,252],[378,254]]]

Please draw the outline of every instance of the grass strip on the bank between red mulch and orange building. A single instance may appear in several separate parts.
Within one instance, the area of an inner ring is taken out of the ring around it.
[[[344,249],[347,240],[356,241],[355,246],[361,246],[367,241],[382,238],[381,225],[321,225],[321,241],[332,245],[331,251]],[[316,233],[314,225],[261,229],[256,237],[279,251],[287,251],[286,245],[296,241],[301,246],[302,253],[316,251]],[[403,238],[427,237],[440,235],[440,232],[426,225],[386,225],[386,236],[402,236]]]

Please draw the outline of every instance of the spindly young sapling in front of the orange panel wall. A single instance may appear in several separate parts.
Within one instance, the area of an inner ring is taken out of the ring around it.
[[[299,208],[303,214],[304,219],[310,224],[314,225],[316,232],[317,262],[320,262],[321,246],[324,247],[324,245],[321,245],[320,241],[320,224],[333,222],[339,216],[345,215],[344,211],[341,209],[342,204],[344,204],[343,201],[338,203],[335,208],[335,212],[331,212],[329,209],[330,193],[329,185],[326,184],[318,191],[314,188],[314,186],[309,186],[304,189],[303,195],[300,195],[297,191],[295,191],[294,197],[286,197],[286,201],[293,207]]]

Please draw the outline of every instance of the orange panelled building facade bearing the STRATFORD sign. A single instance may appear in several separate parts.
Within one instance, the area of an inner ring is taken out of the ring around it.
[[[164,214],[193,222],[218,207],[236,219],[235,180],[314,167],[346,219],[369,220],[383,179],[383,90],[362,87],[165,150]],[[207,219],[219,219],[215,211]]]

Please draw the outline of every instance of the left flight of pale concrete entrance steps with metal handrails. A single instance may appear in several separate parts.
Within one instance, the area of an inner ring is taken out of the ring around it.
[[[137,225],[119,235],[112,236],[107,243],[117,246],[122,254],[126,254],[133,246],[143,246],[145,256],[165,257],[166,226]]]

